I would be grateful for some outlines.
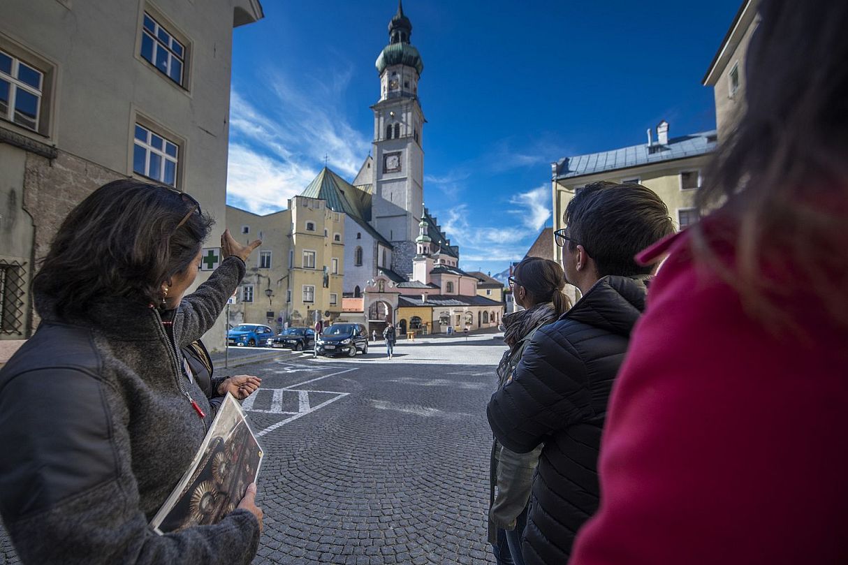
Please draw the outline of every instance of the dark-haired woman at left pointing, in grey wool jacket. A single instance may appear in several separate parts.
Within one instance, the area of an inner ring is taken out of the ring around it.
[[[23,562],[253,559],[255,485],[214,526],[162,536],[148,526],[212,419],[181,346],[212,327],[259,245],[224,232],[225,259],[183,298],[211,225],[187,193],[123,180],[59,227],[33,286],[42,321],[0,370],[0,514]],[[254,384],[225,389],[243,396]]]

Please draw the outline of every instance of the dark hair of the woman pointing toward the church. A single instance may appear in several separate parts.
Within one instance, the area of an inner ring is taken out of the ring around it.
[[[192,208],[190,199],[166,187],[104,184],[62,222],[34,294],[49,296],[59,316],[81,315],[105,297],[158,304],[163,282],[187,269],[214,223]]]

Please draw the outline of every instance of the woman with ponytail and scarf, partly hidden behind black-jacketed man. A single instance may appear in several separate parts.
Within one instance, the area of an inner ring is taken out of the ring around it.
[[[498,365],[498,388],[512,379],[518,361],[539,327],[566,313],[571,307],[562,290],[565,273],[556,261],[527,257],[518,263],[510,277],[510,288],[518,310],[504,316],[504,341],[510,347]],[[488,541],[501,565],[523,565],[522,534],[527,523],[527,503],[538,464],[539,445],[529,453],[516,453],[492,442],[489,460]]]

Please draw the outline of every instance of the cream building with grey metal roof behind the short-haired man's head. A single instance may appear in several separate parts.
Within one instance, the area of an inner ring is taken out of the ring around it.
[[[679,137],[669,137],[668,132],[668,122],[663,120],[656,126],[656,139],[654,132],[648,131],[648,143],[565,157],[552,163],[554,231],[565,227],[563,216],[574,195],[598,181],[636,182],[649,187],[666,203],[678,227],[695,221],[695,194],[716,148],[716,131]],[[562,248],[553,244],[553,249],[554,259],[561,263]],[[574,290],[571,288],[569,294],[577,299]]]

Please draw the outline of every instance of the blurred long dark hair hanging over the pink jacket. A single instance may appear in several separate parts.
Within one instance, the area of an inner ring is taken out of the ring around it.
[[[697,226],[695,250],[763,320],[789,317],[784,294],[793,291],[763,277],[784,272],[848,326],[848,3],[763,0],[760,14],[745,115],[722,140],[698,200],[734,226],[735,264],[722,266],[714,238]]]

